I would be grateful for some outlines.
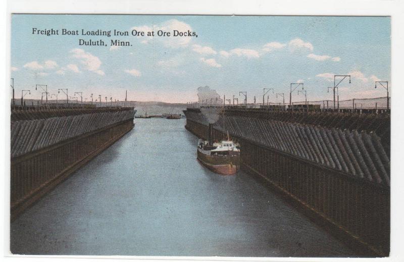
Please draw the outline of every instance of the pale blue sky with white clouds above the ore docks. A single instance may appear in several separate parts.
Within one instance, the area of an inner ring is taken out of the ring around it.
[[[62,35],[63,28],[79,35]],[[81,35],[81,29],[129,36]],[[157,36],[159,30],[195,36]],[[263,88],[274,88],[269,100],[280,102],[275,93],[288,100],[290,83],[299,82],[309,101],[331,100],[334,75],[351,75],[350,84],[345,79],[338,86],[340,100],[381,97],[386,90],[375,89],[375,81],[389,81],[391,89],[390,31],[390,17],[14,14],[10,70],[16,98],[22,89],[31,90],[25,98],[40,98],[35,85],[46,84],[49,95],[68,88],[69,96],[123,100],[128,90],[128,100],[185,103],[198,99],[199,86],[209,86],[239,101],[239,91],[246,91],[248,102],[262,101]],[[79,45],[79,39],[107,46]],[[111,46],[115,39],[130,45]],[[296,89],[292,101],[304,96]]]

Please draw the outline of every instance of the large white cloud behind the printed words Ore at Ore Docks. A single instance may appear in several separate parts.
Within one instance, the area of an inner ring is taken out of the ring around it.
[[[179,32],[188,32],[192,31],[192,28],[190,25],[178,21],[177,19],[171,19],[168,20],[160,25],[153,25],[153,26],[135,26],[131,28],[132,30],[135,29],[137,31],[142,31],[145,33],[145,36],[138,36],[142,38],[142,43],[146,44],[149,43],[152,40],[158,40],[161,43],[163,43],[167,47],[171,48],[179,48],[179,47],[186,47],[189,45],[189,42],[191,41],[192,37],[190,36],[173,36],[173,31],[177,30]],[[171,36],[157,36],[157,31],[162,30],[164,32],[170,32]],[[149,31],[154,31],[155,36],[146,36],[147,32]]]

